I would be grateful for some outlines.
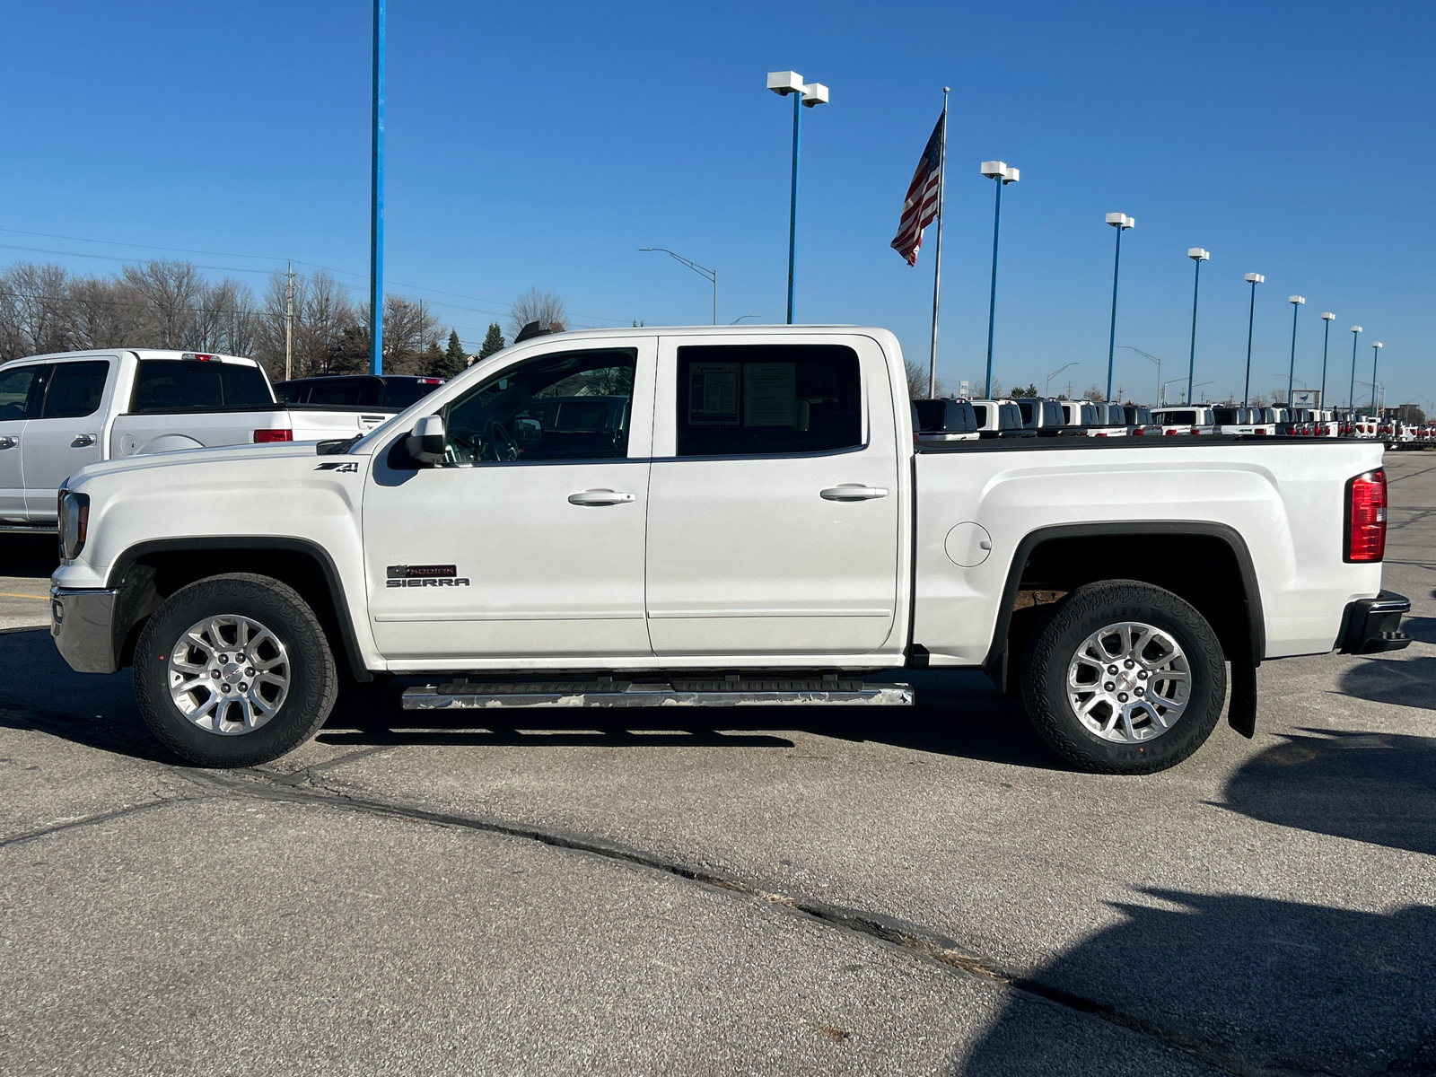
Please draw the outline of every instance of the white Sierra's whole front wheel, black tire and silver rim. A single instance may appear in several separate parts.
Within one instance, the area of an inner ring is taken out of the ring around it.
[[[267,576],[211,576],[180,589],[135,646],[145,722],[201,767],[253,767],[293,751],[325,724],[337,691],[314,612]]]

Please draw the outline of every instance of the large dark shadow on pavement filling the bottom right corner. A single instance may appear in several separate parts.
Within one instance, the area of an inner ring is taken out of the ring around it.
[[[1436,1073],[1436,909],[1139,893],[1018,987],[1228,1073]],[[1096,1022],[1053,1037],[1031,1007],[1010,1004],[958,1071],[1165,1071]]]

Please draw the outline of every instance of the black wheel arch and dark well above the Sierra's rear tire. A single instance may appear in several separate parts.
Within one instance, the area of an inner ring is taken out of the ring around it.
[[[1114,572],[1119,563],[1123,570]],[[1142,580],[1170,590],[1206,617],[1228,659],[1261,663],[1267,651],[1261,586],[1241,533],[1211,521],[1139,520],[1057,524],[1022,537],[1008,566],[992,643],[982,661],[988,676],[998,685],[1008,684],[1018,592],[1067,592],[1103,579]],[[1223,582],[1235,583],[1236,590],[1209,586]],[[1021,619],[1017,628],[1022,628]]]

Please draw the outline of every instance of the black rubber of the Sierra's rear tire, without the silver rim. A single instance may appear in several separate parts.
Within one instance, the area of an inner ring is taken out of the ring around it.
[[[1068,665],[1078,648],[1093,633],[1120,622],[1140,622],[1169,633],[1182,648],[1190,678],[1186,709],[1170,728],[1144,741],[1117,742],[1097,735],[1068,701]],[[1068,763],[1097,774],[1152,774],[1175,767],[1212,735],[1226,696],[1226,663],[1212,626],[1188,602],[1150,583],[1103,580],[1066,596],[1032,633],[1021,682],[1028,718]]]

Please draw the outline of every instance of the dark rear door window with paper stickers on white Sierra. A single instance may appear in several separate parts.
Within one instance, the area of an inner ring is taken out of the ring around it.
[[[678,349],[678,455],[831,452],[863,444],[857,352],[841,345]]]

